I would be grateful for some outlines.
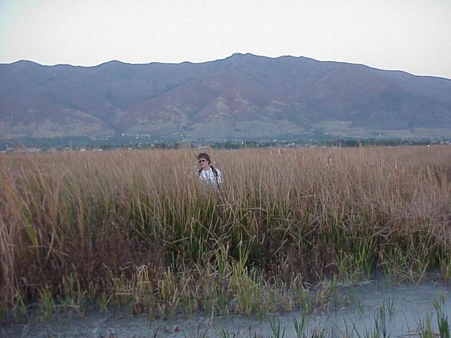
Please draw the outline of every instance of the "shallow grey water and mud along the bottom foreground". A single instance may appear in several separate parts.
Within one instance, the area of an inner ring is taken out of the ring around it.
[[[321,327],[327,335],[342,337],[352,334],[357,338],[356,332],[359,332],[364,337],[365,332],[373,331],[375,320],[378,320],[378,325],[385,327],[387,334],[398,337],[414,334],[419,320],[425,320],[428,315],[435,330],[433,300],[440,294],[445,299],[443,312],[451,313],[451,286],[443,283],[390,285],[371,282],[338,289],[352,302],[342,308],[332,305],[307,315],[308,328],[304,332]],[[279,326],[280,332],[285,329],[284,337],[296,337],[293,318],[300,322],[302,311],[274,313],[264,318],[240,315],[211,318],[199,314],[191,319],[180,316],[171,320],[149,320],[147,315],[117,312],[91,312],[82,318],[63,315],[44,323],[5,325],[0,328],[0,337],[218,337],[221,330],[227,331],[228,337],[234,337],[234,334],[235,337],[273,337],[270,323],[273,327]],[[450,315],[448,318],[451,321]]]

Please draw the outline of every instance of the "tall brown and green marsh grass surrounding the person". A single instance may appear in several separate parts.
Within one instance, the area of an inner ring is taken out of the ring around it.
[[[451,279],[451,146],[206,149],[221,189],[198,152],[0,154],[0,319],[308,313],[324,281]]]

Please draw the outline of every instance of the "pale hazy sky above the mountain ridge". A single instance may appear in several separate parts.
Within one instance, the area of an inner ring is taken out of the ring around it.
[[[0,63],[307,56],[451,78],[451,0],[0,0]]]

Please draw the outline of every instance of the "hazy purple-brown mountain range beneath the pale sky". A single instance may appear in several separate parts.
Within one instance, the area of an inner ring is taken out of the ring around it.
[[[0,65],[0,137],[451,134],[451,80],[305,57]]]

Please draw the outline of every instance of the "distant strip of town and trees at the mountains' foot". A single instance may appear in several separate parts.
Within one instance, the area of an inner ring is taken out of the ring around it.
[[[316,138],[280,138],[280,139],[187,139],[180,136],[152,137],[151,135],[120,136],[77,136],[77,137],[19,137],[16,139],[0,139],[0,152],[51,152],[51,151],[105,151],[110,149],[180,149],[180,148],[212,148],[212,149],[245,149],[268,147],[319,147],[319,146],[413,146],[451,144],[451,139],[396,137],[316,137]]]

